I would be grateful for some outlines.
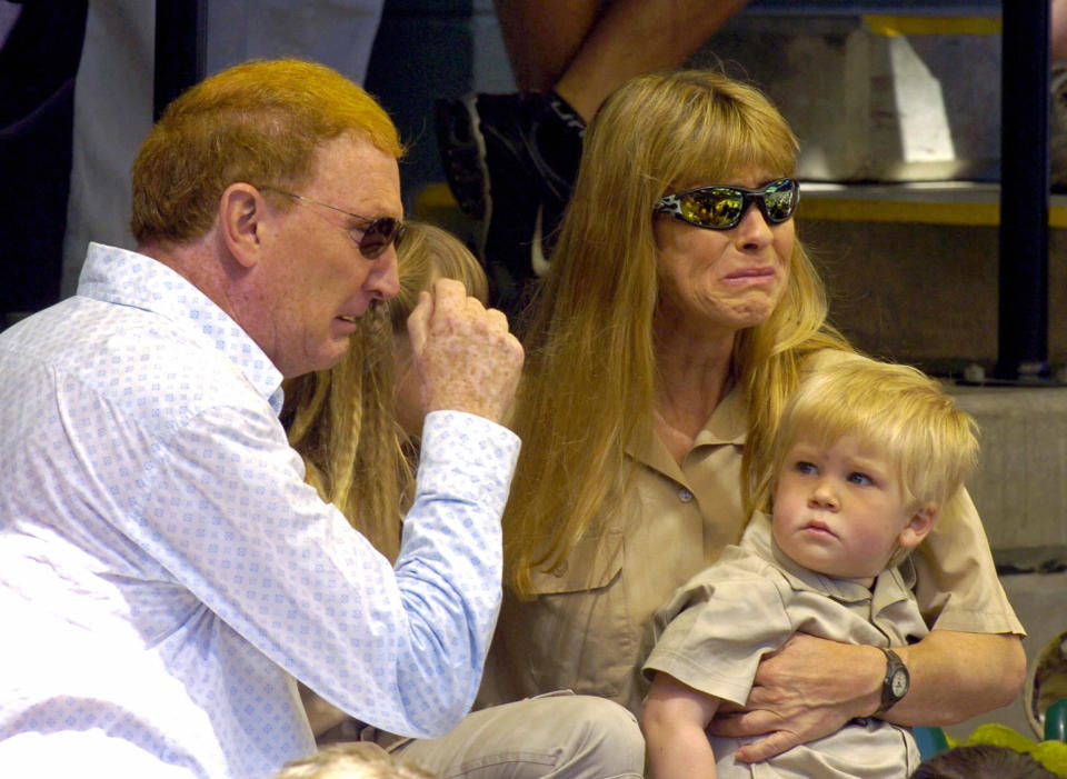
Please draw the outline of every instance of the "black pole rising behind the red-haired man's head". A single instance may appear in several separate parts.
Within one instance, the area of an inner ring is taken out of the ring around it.
[[[156,76],[152,119],[205,77],[207,0],[156,0]]]

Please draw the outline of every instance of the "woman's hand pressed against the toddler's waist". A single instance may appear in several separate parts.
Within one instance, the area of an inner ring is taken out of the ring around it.
[[[722,703],[708,730],[766,735],[736,753],[747,762],[766,760],[870,715],[881,701],[885,676],[886,656],[875,647],[795,633],[759,663],[746,707]]]

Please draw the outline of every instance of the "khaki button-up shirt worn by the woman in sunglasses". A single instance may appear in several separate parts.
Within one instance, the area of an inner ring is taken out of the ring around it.
[[[535,572],[534,600],[505,595],[478,708],[570,689],[639,715],[654,611],[741,538],[747,422],[735,389],[681,467],[656,436],[628,450],[636,465],[631,491],[602,535],[579,542],[556,570]],[[916,599],[931,629],[1025,635],[969,496],[943,508],[914,560]]]

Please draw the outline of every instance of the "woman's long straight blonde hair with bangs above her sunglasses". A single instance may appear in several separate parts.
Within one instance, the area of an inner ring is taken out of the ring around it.
[[[503,520],[508,583],[520,597],[532,593],[532,570],[556,567],[618,509],[626,449],[652,435],[652,206],[739,171],[791,176],[795,152],[761,92],[710,71],[638,77],[601,106],[527,336],[513,420],[522,452]],[[777,309],[735,346],[734,376],[750,403],[746,508],[769,478],[754,456],[772,437],[801,360],[848,348],[826,314],[821,281],[797,242]]]

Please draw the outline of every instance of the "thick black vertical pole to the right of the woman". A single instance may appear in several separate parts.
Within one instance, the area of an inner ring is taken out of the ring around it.
[[[1048,372],[1048,0],[1003,3],[999,379]]]

